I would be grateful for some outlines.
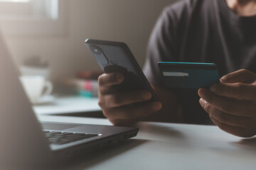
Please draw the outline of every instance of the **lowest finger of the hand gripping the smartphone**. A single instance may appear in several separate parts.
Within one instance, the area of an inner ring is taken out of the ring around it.
[[[152,103],[144,103],[136,106],[122,106],[118,108],[110,108],[105,113],[107,118],[112,121],[115,120],[141,120],[146,118],[146,116],[159,111],[161,108],[161,103],[155,101]]]

